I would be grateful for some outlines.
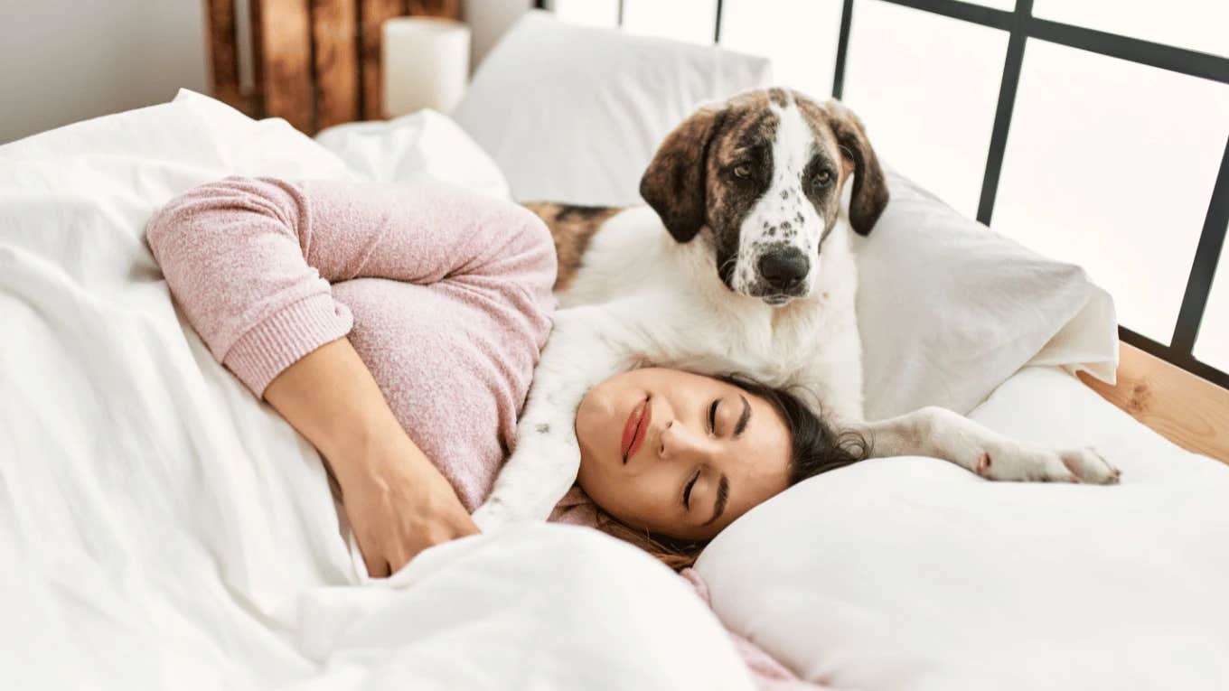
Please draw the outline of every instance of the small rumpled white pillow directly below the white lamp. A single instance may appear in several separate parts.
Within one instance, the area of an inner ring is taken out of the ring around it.
[[[499,166],[447,116],[423,109],[392,120],[345,123],[316,135],[350,170],[376,182],[434,180],[508,199]]]

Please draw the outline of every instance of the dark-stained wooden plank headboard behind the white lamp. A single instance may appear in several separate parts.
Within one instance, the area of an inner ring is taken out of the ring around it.
[[[398,16],[460,18],[460,0],[248,0],[252,44],[240,45],[235,0],[205,0],[214,96],[253,117],[315,134],[380,119],[380,26]],[[251,50],[254,87],[240,84]]]

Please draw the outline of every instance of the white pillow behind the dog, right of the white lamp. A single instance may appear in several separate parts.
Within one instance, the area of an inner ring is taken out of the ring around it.
[[[768,85],[763,58],[528,12],[487,55],[452,117],[519,200],[640,204],[640,175],[703,101]]]

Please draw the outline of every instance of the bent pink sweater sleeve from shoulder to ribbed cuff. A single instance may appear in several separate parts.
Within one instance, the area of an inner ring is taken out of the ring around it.
[[[447,280],[526,314],[553,309],[537,216],[442,186],[231,177],[173,199],[146,237],[188,322],[257,396],[349,333],[331,283]]]

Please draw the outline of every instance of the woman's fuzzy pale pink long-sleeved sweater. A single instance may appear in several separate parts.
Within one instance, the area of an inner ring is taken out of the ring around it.
[[[554,245],[537,216],[447,187],[231,177],[173,199],[146,236],[188,322],[257,397],[349,336],[414,443],[482,504],[551,330]],[[554,515],[592,518],[579,491]],[[730,636],[761,689],[816,689]]]

